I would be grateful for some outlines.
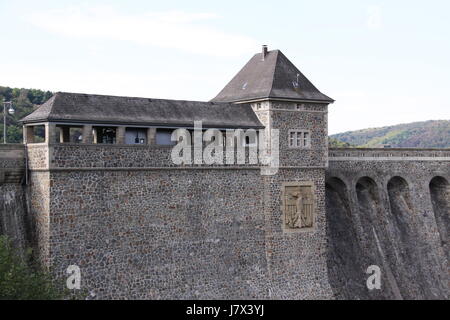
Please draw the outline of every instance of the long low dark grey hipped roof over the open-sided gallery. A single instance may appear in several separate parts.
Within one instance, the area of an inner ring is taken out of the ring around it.
[[[21,120],[31,122],[262,128],[248,104],[163,100],[58,92]]]

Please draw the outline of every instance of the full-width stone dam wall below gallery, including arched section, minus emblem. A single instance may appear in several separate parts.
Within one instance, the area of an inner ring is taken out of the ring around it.
[[[0,231],[57,277],[78,265],[99,299],[449,298],[450,150],[330,149],[327,169],[305,157],[275,176],[169,157],[3,145]],[[282,229],[289,181],[314,183],[313,231]],[[370,265],[381,290],[366,287]]]

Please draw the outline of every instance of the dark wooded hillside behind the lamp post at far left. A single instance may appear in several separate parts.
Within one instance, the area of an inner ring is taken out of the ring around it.
[[[10,115],[7,113],[6,128],[7,142],[22,142],[22,126],[18,120],[30,114],[37,106],[47,101],[53,95],[50,91],[42,91],[37,89],[19,89],[0,86],[0,107],[1,107],[1,124],[0,124],[0,141],[3,142],[3,102],[12,101],[15,113]]]

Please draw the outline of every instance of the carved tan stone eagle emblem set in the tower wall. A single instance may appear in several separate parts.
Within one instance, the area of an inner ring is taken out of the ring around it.
[[[284,229],[295,231],[314,227],[314,185],[312,182],[283,184]]]

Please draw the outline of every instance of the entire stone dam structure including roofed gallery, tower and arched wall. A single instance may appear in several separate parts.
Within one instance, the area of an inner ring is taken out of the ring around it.
[[[0,148],[0,231],[97,299],[448,299],[450,150],[329,150],[332,102],[267,47],[210,102],[56,93]],[[175,164],[196,121],[278,134],[277,172]]]

